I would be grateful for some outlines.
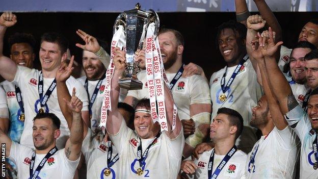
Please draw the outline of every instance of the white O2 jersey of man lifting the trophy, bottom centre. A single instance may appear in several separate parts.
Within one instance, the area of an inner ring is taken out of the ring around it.
[[[119,178],[177,178],[184,146],[182,130],[175,139],[169,139],[165,132],[157,138],[148,150],[144,172],[140,176],[137,175],[137,169],[140,168],[137,160],[137,148],[140,145],[138,135],[122,119],[119,132],[110,137],[120,155]],[[152,141],[153,139],[142,139],[142,153]]]

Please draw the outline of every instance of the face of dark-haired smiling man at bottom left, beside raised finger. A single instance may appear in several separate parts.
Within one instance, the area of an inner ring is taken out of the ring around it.
[[[58,138],[53,122],[49,118],[36,119],[33,122],[33,143],[36,149],[44,150],[54,144]]]

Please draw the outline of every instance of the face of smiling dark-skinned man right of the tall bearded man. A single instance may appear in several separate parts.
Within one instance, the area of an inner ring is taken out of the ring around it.
[[[244,42],[240,40],[239,33],[232,29],[224,29],[218,40],[220,53],[229,66],[235,66],[241,60],[240,56],[245,52]]]

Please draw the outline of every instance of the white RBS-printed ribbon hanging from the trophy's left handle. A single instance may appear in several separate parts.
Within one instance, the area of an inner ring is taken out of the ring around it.
[[[107,122],[107,111],[112,111],[111,108],[111,80],[113,77],[113,73],[115,70],[115,65],[113,63],[113,59],[115,56],[114,48],[120,47],[123,48],[126,44],[126,38],[125,38],[125,31],[122,25],[118,25],[118,30],[114,33],[113,39],[112,39],[112,45],[111,45],[111,61],[110,65],[107,68],[106,71],[106,81],[107,85],[104,89],[104,95],[102,100],[102,106],[100,111],[100,124],[99,127],[101,127],[101,131],[105,135],[105,129],[106,129],[106,122]]]

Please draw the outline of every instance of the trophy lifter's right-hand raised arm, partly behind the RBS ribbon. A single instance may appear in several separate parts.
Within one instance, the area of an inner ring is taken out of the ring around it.
[[[165,88],[166,114],[167,114],[167,122],[168,122],[168,132],[166,131],[166,134],[170,139],[175,139],[181,132],[182,124],[177,114],[176,121],[175,121],[176,122],[175,129],[171,131],[172,123],[173,123],[174,101],[173,101],[172,93],[170,93],[170,90],[168,86],[166,85],[166,83],[164,86],[165,86],[164,88]]]

